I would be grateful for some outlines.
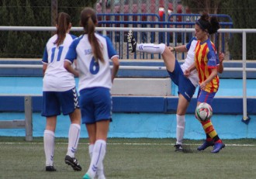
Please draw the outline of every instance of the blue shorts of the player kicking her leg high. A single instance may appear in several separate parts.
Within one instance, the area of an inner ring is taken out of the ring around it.
[[[173,72],[168,71],[171,80],[178,86],[178,94],[182,94],[184,98],[190,102],[193,95],[195,94],[195,86],[184,76],[182,68],[178,61],[175,60],[175,70]]]

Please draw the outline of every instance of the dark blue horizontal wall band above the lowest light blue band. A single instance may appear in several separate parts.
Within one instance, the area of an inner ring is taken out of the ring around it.
[[[33,112],[41,112],[42,96],[33,96]],[[15,105],[13,105],[15,104]],[[112,96],[112,112],[115,113],[175,113],[178,97]],[[194,114],[196,98],[192,98],[187,113]],[[213,100],[214,114],[242,115],[243,98],[216,97]],[[247,98],[247,113],[256,115],[256,97]],[[24,95],[0,95],[0,112],[24,112]]]

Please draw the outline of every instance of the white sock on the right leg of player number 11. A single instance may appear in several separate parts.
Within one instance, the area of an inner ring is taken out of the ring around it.
[[[69,127],[67,155],[70,157],[74,157],[74,153],[78,150],[80,131],[81,126],[78,124],[71,124]]]

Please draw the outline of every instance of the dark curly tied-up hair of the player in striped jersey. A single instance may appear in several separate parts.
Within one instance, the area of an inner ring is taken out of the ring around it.
[[[209,14],[203,12],[200,19],[195,22],[202,30],[206,30],[209,34],[216,33],[220,29],[220,24],[216,16],[209,17]]]

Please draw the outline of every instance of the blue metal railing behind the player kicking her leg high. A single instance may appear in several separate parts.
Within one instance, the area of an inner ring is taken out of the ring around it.
[[[218,19],[220,20],[220,26],[221,28],[233,28],[233,22],[230,18],[230,15],[216,15]],[[195,20],[199,19],[199,14],[171,14],[168,15],[167,21],[164,21],[165,16],[163,15],[160,17],[157,14],[133,14],[133,13],[99,13],[98,19],[99,19],[99,26],[103,27],[162,27],[162,28],[168,28],[168,27],[179,27],[179,28],[192,28],[195,25]],[[177,20],[180,20],[182,18],[182,21],[174,22]],[[135,32],[133,35],[137,39],[138,43],[166,43],[167,45],[170,45],[172,43],[173,46],[177,46],[178,43],[186,44],[189,42],[189,40],[192,38],[193,33],[158,33],[158,40],[156,40],[156,33],[157,32],[150,32],[149,36],[147,32]],[[107,36],[111,40],[115,41],[116,50],[119,51],[119,56],[122,59],[123,57],[126,57],[126,59],[130,58],[130,54],[128,53],[128,46],[126,45],[126,36],[127,32],[107,32]],[[215,44],[216,48],[218,49],[218,33],[215,35]],[[140,38],[138,39],[137,37]],[[232,36],[230,33],[229,36]],[[148,41],[150,40],[150,41]],[[125,44],[125,46],[124,46]],[[124,50],[126,50],[126,54],[124,53]],[[221,51],[225,51],[225,36],[224,33],[221,33]],[[133,55],[134,59],[137,59],[137,53],[134,53]],[[151,59],[154,58],[153,54],[147,54],[147,53],[141,53],[140,57],[141,59]],[[159,54],[159,58],[161,58],[161,55]],[[185,58],[185,53],[182,53],[182,58]]]

